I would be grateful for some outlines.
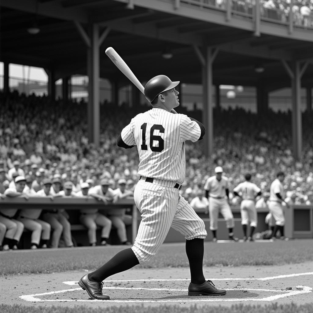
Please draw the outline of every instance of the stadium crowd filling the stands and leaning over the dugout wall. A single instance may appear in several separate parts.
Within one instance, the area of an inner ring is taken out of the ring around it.
[[[79,193],[81,197],[95,197],[104,202],[131,196],[139,178],[138,153],[135,148],[125,150],[117,147],[116,139],[129,122],[129,116],[149,110],[148,105],[130,108],[127,104],[117,106],[106,101],[101,104],[100,146],[95,147],[87,137],[87,104],[84,101],[52,102],[45,96],[19,95],[14,91],[7,95],[0,93],[0,102],[1,197],[16,196],[12,192],[16,179],[24,183],[24,193],[27,188],[30,190],[28,196],[36,192],[49,197]],[[179,113],[202,120],[200,110],[187,112],[181,106]],[[295,161],[291,151],[290,112],[275,113],[269,110],[268,114],[259,116],[242,109],[214,109],[214,152],[210,157],[205,157],[202,141],[186,144],[186,179],[180,192],[191,201],[203,192],[204,182],[213,174],[214,167],[222,166],[229,179],[230,198],[237,205],[232,190],[244,181],[247,172],[251,173],[252,181],[262,192],[266,192],[280,170],[286,174],[284,188],[290,203],[313,204],[312,122],[313,115],[303,115],[303,156],[301,160]],[[9,239],[15,241],[8,244],[4,242],[11,248],[16,246],[18,239],[14,239],[14,235],[19,234],[21,228],[29,227],[33,232],[37,229],[37,233],[38,228],[52,228],[51,242],[54,240],[52,246],[56,247],[61,233],[64,236],[69,228],[68,215],[64,210],[35,212],[33,217],[41,223],[41,226],[36,224],[37,228],[23,223],[20,212],[17,212],[19,215],[15,213],[12,217],[19,216],[19,231],[15,229],[10,234]],[[3,217],[3,209],[0,214]],[[101,244],[106,244],[114,223],[115,227],[123,228],[119,236],[121,242],[128,244],[125,225],[129,220],[124,218],[125,212],[122,214],[122,225],[110,218],[110,214],[103,215],[103,218],[101,216]],[[98,220],[96,217],[87,222],[84,218],[80,219],[89,229],[90,245],[95,245],[95,222]],[[39,247],[39,239],[38,234],[32,237],[33,249]],[[41,239],[44,241],[41,240],[40,244],[47,246],[50,238],[46,236]],[[71,245],[73,243],[68,240],[67,246]]]

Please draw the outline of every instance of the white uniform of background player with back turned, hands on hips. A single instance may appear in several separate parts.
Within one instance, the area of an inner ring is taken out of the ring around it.
[[[261,189],[256,184],[246,181],[240,183],[233,191],[237,192],[243,199],[240,204],[241,225],[249,225],[250,222],[251,227],[257,227],[255,196]]]

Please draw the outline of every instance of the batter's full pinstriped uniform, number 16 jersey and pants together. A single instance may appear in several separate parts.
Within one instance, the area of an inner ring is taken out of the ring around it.
[[[158,252],[170,227],[187,240],[207,236],[203,220],[179,193],[185,179],[185,141],[200,137],[197,122],[159,108],[136,115],[121,132],[127,146],[137,146],[140,159],[134,200],[141,223],[131,248],[140,264]]]

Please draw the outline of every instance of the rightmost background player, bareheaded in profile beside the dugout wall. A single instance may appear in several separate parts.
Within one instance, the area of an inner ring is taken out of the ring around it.
[[[285,179],[285,174],[283,172],[277,173],[277,178],[271,183],[269,188],[269,211],[272,213],[273,218],[275,219],[275,227],[272,233],[271,241],[276,239],[276,233],[280,231],[280,239],[288,240],[285,237],[284,226],[285,226],[285,216],[282,203],[286,204],[286,207],[289,208],[289,204],[285,201],[285,192],[282,182]]]

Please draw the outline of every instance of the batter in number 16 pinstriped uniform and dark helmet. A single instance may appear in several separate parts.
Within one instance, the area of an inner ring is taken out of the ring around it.
[[[93,299],[109,300],[102,294],[103,280],[137,264],[148,262],[159,251],[170,227],[185,236],[191,282],[188,295],[225,295],[203,275],[203,240],[207,236],[203,220],[179,190],[185,179],[185,141],[201,140],[204,126],[187,115],[176,114],[179,81],[165,75],[149,80],[144,93],[152,109],[136,115],[118,136],[117,145],[138,149],[139,182],[134,200],[141,223],[134,245],[117,253],[94,272],[84,275],[79,285]]]

